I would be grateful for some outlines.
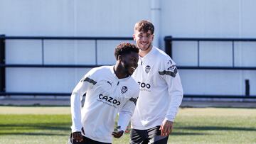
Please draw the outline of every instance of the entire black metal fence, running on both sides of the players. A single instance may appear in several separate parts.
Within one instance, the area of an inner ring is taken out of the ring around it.
[[[5,40],[41,40],[42,50],[42,63],[40,65],[30,64],[6,64],[5,62]],[[44,40],[95,40],[95,57],[96,65],[46,65],[44,64]],[[98,67],[97,65],[97,40],[133,40],[130,37],[46,37],[46,36],[6,36],[0,35],[0,95],[1,96],[70,96],[70,93],[43,93],[43,92],[6,92],[6,67],[43,67],[43,68],[92,68]],[[235,67],[234,65],[234,43],[235,42],[256,42],[256,38],[172,38],[166,36],[165,49],[166,53],[172,56],[172,42],[173,41],[196,41],[198,43],[198,54],[200,50],[201,41],[230,41],[233,48],[233,66],[232,67],[212,67],[201,66],[199,63],[200,55],[198,55],[197,66],[182,66],[179,65],[180,70],[256,70],[256,67]],[[188,98],[233,98],[233,99],[256,99],[256,96],[250,95],[249,80],[245,80],[245,95],[233,96],[233,95],[206,95],[206,94],[184,94],[184,97]]]

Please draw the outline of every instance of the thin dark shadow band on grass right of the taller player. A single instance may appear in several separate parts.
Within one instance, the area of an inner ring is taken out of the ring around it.
[[[178,129],[193,131],[256,131],[256,128],[239,128],[239,127],[223,127],[223,126],[187,126],[177,127]]]

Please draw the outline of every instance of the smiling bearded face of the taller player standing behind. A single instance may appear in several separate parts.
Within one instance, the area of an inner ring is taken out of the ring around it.
[[[147,32],[136,30],[134,31],[133,38],[136,41],[139,50],[146,52],[151,50],[154,34],[152,34],[150,30]]]

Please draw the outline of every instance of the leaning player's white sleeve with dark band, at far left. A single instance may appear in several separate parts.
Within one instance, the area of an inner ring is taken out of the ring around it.
[[[90,71],[91,72],[91,71]],[[73,92],[70,97],[70,108],[71,108],[71,116],[72,116],[72,133],[81,131],[82,122],[81,122],[81,109],[82,109],[82,95],[87,92],[96,82],[90,78],[91,74],[88,72],[84,77],[78,82],[73,89]]]

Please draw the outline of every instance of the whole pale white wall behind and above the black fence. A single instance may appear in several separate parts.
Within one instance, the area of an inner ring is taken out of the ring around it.
[[[161,0],[160,48],[164,36],[255,38],[254,0]],[[151,19],[151,0],[0,0],[0,34],[131,37],[134,23]],[[121,40],[122,41],[122,40]],[[120,40],[100,40],[97,64],[114,64]],[[256,43],[235,43],[235,66],[256,67]],[[7,64],[95,65],[94,40],[6,40]],[[197,43],[175,42],[177,65],[198,65]],[[230,42],[200,43],[200,65],[232,66]],[[179,70],[185,94],[256,95],[255,71]],[[87,69],[7,68],[7,92],[71,92]],[[33,84],[38,82],[36,84]]]

